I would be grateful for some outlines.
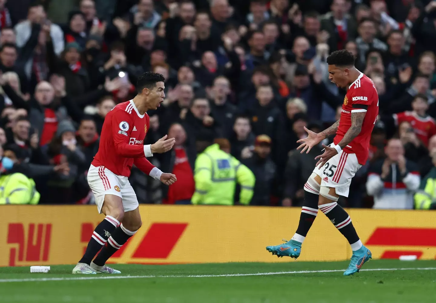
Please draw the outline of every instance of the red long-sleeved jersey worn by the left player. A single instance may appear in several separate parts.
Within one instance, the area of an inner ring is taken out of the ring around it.
[[[141,115],[132,100],[120,103],[106,115],[94,166],[105,166],[116,175],[129,177],[132,165],[150,175],[154,168],[145,157],[152,156],[144,145],[150,117]]]

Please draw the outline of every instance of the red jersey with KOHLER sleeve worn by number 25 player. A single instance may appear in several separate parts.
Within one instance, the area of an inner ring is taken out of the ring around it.
[[[371,132],[378,116],[378,94],[372,80],[363,73],[350,85],[345,95],[334,144],[338,144],[351,127],[351,113],[362,111],[366,111],[366,114],[361,131],[343,150],[348,154],[356,154],[359,164],[364,165],[368,159]]]

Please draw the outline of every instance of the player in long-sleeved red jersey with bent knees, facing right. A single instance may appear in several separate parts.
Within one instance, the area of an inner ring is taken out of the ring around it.
[[[146,111],[157,109],[164,101],[164,80],[161,74],[143,74],[138,79],[136,97],[116,105],[106,115],[99,151],[88,171],[88,184],[94,193],[95,204],[99,213],[106,217],[92,233],[85,255],[73,273],[121,273],[105,263],[142,224],[138,200],[128,179],[133,164],[166,185],[177,181],[175,175],[161,172],[146,159],[153,153],[169,151],[174,138],[164,136],[154,144],[144,145],[150,128]]]

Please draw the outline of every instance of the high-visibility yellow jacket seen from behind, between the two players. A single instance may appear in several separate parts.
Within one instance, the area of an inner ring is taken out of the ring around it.
[[[233,205],[236,182],[241,185],[239,202],[249,204],[256,181],[254,174],[235,157],[213,144],[198,155],[194,170],[192,204]]]

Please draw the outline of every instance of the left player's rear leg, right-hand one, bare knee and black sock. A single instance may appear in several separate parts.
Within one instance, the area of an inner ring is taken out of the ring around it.
[[[102,250],[95,257],[91,263],[91,267],[95,270],[101,270],[105,267],[106,261],[123,246],[127,240],[140,229],[142,225],[141,215],[139,213],[139,207],[124,213],[124,218],[119,227],[117,227],[112,235],[109,237],[108,242],[103,246]],[[118,271],[117,271],[118,272]],[[118,272],[119,273],[119,272]]]

